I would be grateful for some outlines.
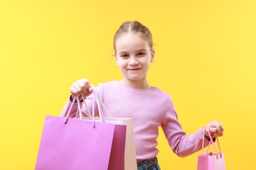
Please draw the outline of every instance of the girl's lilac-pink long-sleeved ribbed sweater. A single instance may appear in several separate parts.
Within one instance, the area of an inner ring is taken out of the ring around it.
[[[137,161],[154,158],[158,154],[156,139],[159,126],[177,156],[188,156],[202,149],[202,128],[186,136],[178,122],[170,95],[160,89],[153,87],[151,90],[137,90],[111,81],[99,84],[96,90],[112,117],[133,118]],[[86,101],[88,107],[92,106],[90,96]],[[71,101],[68,100],[61,116],[67,114],[70,105]],[[71,117],[75,115],[76,109],[77,105],[72,109]],[[82,111],[85,110],[83,106]],[[205,141],[207,146],[209,141]]]

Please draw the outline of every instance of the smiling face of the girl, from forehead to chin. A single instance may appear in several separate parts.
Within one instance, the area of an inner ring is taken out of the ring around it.
[[[127,80],[146,80],[154,50],[135,33],[127,33],[116,40],[116,63]]]

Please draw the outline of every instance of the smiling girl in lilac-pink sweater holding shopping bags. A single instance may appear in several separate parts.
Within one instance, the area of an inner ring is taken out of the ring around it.
[[[114,35],[114,57],[123,78],[119,81],[100,83],[96,87],[100,99],[112,117],[133,118],[137,167],[140,170],[160,169],[156,158],[159,126],[163,129],[173,152],[181,157],[201,150],[204,138],[209,141],[207,133],[203,136],[205,127],[213,127],[210,129],[212,137],[223,135],[223,126],[217,121],[210,122],[189,136],[182,131],[170,95],[148,84],[148,69],[155,58],[152,46],[152,35],[147,27],[139,22],[123,23]],[[90,102],[91,97],[88,96],[93,90],[89,80],[82,78],[74,82],[70,92],[71,96],[62,110],[62,116],[66,116],[75,95],[87,97],[86,101]],[[75,115],[76,109],[73,108],[70,116]],[[82,111],[86,112],[85,106]],[[205,146],[207,144],[209,142],[205,143]]]

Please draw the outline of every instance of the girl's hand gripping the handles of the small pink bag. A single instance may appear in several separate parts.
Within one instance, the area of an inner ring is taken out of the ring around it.
[[[207,124],[207,126],[203,127],[204,134],[207,137],[209,137],[208,127],[211,127],[211,128],[209,128],[211,137],[223,136],[224,128],[223,128],[221,122],[214,120],[214,121],[210,122],[209,124]]]

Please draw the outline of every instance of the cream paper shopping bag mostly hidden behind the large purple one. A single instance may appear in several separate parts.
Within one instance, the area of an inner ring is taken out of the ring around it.
[[[83,120],[92,120],[89,117],[83,117]],[[96,121],[100,121],[100,118],[95,118]],[[133,120],[132,118],[104,118],[106,123],[110,124],[122,124],[126,125],[126,137],[125,137],[125,170],[137,169],[137,159],[135,150],[135,139],[133,132]],[[112,152],[114,153],[114,152]],[[115,161],[114,157],[110,157],[110,162]]]

